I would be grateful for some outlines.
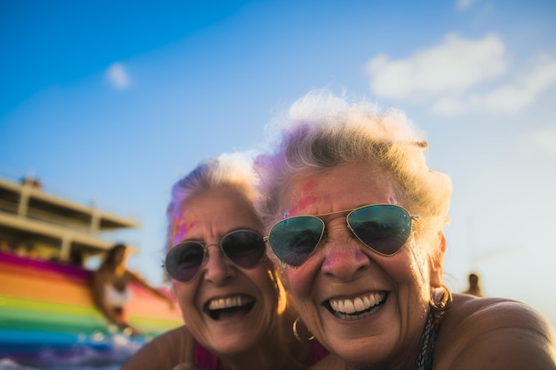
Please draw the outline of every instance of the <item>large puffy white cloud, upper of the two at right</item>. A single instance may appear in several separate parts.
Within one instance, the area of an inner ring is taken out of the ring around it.
[[[431,98],[465,92],[507,71],[504,43],[496,35],[466,40],[446,35],[443,43],[409,59],[378,55],[367,64],[370,88],[383,98]]]

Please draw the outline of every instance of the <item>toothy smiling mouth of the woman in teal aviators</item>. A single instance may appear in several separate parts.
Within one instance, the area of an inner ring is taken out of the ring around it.
[[[324,306],[338,319],[365,319],[383,306],[386,298],[388,298],[386,292],[369,293],[354,299],[330,299],[324,303]]]

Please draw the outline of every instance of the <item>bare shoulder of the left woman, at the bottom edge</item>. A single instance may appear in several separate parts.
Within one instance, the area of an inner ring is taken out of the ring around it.
[[[147,342],[122,366],[122,370],[172,368],[195,361],[195,339],[187,327],[178,327]]]

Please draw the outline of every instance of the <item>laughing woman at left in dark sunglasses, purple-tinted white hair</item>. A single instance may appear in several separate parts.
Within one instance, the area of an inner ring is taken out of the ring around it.
[[[304,369],[328,352],[298,342],[293,310],[266,258],[242,154],[201,162],[172,187],[164,268],[185,326],[156,337],[127,369]]]

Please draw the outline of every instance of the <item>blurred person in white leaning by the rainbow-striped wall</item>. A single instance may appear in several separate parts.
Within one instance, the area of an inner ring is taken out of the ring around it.
[[[128,270],[128,251],[124,244],[115,244],[107,251],[99,268],[92,273],[92,300],[109,323],[126,334],[139,335],[139,330],[131,327],[125,315],[125,305],[131,299],[130,282],[135,282],[168,301],[171,308],[174,303],[171,297],[151,287],[137,272]]]

